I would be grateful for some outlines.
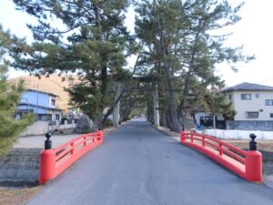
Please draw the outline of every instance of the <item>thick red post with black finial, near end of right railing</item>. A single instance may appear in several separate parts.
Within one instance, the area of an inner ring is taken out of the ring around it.
[[[246,178],[249,181],[261,182],[262,173],[262,154],[257,150],[256,135],[250,134],[249,150],[246,155]]]

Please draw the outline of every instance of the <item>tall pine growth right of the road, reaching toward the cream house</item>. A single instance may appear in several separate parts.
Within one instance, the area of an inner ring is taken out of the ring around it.
[[[227,35],[220,32],[238,22],[241,6],[233,8],[225,0],[136,1],[136,35],[147,46],[143,60],[165,81],[159,83],[159,96],[167,94],[165,118],[172,130],[179,131],[187,108],[205,106],[213,113],[231,109],[223,97],[211,95],[211,88],[223,87],[215,76],[218,63],[234,68],[238,61],[252,59],[242,55],[240,46],[224,46]]]

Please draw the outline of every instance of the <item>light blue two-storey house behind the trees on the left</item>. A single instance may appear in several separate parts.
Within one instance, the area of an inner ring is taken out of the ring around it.
[[[57,108],[57,96],[52,93],[27,89],[17,105],[15,118],[23,113],[33,113],[36,120],[60,121],[62,110]]]

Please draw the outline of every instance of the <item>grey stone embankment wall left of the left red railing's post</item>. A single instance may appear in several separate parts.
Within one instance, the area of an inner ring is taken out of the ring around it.
[[[0,182],[36,182],[42,149],[12,149],[0,157]]]

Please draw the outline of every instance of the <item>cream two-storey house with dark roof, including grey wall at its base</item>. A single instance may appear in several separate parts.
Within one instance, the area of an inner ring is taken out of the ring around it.
[[[227,129],[273,130],[273,87],[241,83],[222,93],[237,112]]]

